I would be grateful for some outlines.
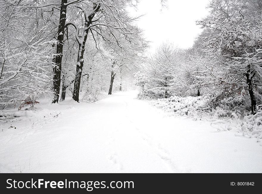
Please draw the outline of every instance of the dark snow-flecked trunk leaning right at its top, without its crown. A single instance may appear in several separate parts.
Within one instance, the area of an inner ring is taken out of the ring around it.
[[[77,102],[79,102],[79,91],[80,91],[80,83],[81,83],[81,75],[82,75],[82,69],[84,66],[84,52],[85,52],[85,42],[87,39],[89,26],[92,23],[92,19],[94,18],[96,12],[99,11],[101,5],[97,5],[96,3],[93,4],[93,12],[88,15],[88,21],[85,21],[85,31],[83,33],[84,39],[81,43],[79,43],[79,49],[78,49],[78,57],[77,57],[77,69],[76,69],[76,76],[75,76],[75,82],[74,82],[74,92],[73,92],[73,99]]]

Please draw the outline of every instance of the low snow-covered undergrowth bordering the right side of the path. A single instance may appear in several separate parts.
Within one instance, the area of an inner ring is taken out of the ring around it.
[[[152,101],[152,104],[174,116],[187,116],[193,120],[205,119],[218,131],[234,129],[236,136],[262,139],[262,105],[254,115],[246,109],[247,103],[239,98],[223,99],[217,107],[210,106],[210,96],[171,96]],[[235,105],[238,106],[235,106]]]

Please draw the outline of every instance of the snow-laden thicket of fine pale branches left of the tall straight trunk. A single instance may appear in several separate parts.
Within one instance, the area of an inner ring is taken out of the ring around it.
[[[52,44],[45,13],[24,9],[21,1],[1,1],[1,105],[21,104],[49,93]],[[32,17],[33,16],[33,17]],[[40,19],[39,19],[40,18]],[[48,18],[48,17],[47,17]]]

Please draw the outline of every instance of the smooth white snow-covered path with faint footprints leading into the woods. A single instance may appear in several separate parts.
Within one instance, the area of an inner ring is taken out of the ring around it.
[[[4,123],[0,172],[262,173],[255,139],[217,132],[207,121],[167,117],[136,95],[66,101],[11,123],[16,129]]]

